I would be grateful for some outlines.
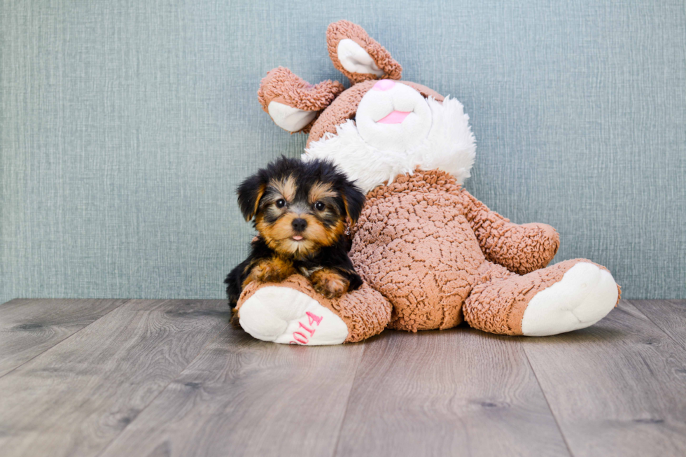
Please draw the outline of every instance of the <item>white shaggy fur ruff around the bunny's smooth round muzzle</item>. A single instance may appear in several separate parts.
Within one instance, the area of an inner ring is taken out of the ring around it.
[[[456,99],[446,97],[441,104],[430,98],[427,102],[431,129],[414,148],[402,152],[374,148],[362,139],[355,122],[348,120],[336,127],[335,135],[325,134],[312,143],[302,160],[331,160],[365,193],[415,169],[440,169],[463,183],[470,176],[476,155],[469,116]]]

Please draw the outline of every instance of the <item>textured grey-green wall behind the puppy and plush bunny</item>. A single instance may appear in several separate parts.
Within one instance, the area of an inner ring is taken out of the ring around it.
[[[0,302],[222,297],[252,236],[235,185],[305,141],[259,80],[342,78],[339,19],[463,101],[468,189],[554,225],[556,261],[686,297],[683,0],[0,2]]]

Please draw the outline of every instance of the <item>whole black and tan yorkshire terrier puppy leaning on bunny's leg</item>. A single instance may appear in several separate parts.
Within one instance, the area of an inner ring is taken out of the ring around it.
[[[241,183],[237,194],[258,236],[224,281],[232,308],[249,283],[280,282],[296,273],[328,298],[362,285],[344,231],[346,217],[357,222],[365,196],[335,165],[281,157]]]

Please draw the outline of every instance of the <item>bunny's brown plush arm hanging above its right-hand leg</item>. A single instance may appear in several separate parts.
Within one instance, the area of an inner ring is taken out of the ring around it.
[[[466,216],[488,260],[511,272],[526,274],[548,265],[560,246],[560,237],[547,224],[517,225],[479,202],[464,189],[459,194]]]

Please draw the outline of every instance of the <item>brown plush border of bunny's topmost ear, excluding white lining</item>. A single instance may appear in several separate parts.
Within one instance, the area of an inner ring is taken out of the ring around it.
[[[384,71],[384,75],[381,78],[371,73],[350,73],[343,68],[341,61],[338,59],[338,43],[345,38],[351,39],[367,51],[367,54],[374,59],[379,69]],[[402,66],[395,62],[395,59],[391,57],[391,53],[386,48],[374,41],[373,38],[370,38],[365,29],[358,24],[353,24],[346,20],[339,20],[329,24],[329,27],[326,29],[326,44],[333,66],[347,76],[353,84],[370,79],[398,80],[402,76]]]

